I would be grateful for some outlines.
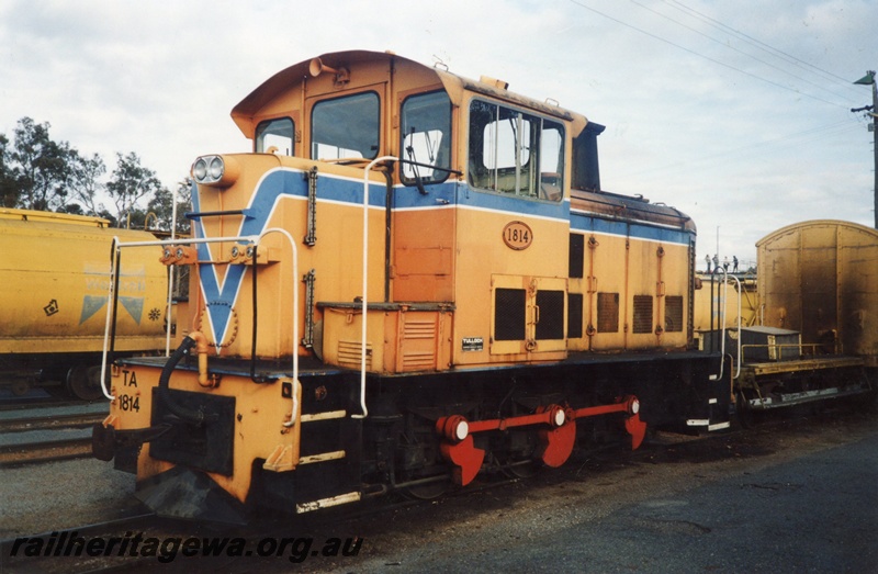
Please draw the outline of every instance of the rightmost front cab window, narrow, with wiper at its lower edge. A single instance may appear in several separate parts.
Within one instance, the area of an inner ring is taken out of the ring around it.
[[[435,183],[448,178],[451,167],[451,101],[443,91],[412,95],[403,102],[403,182],[420,178]],[[442,168],[442,169],[435,169]]]

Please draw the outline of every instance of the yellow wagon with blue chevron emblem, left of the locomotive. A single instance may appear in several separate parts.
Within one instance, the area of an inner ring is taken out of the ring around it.
[[[166,347],[168,270],[158,247],[128,257],[116,273],[108,309],[113,238],[148,241],[153,234],[110,228],[100,217],[0,209],[0,375],[13,393],[32,386],[78,398],[103,396],[101,360],[108,311],[113,354],[157,353]]]

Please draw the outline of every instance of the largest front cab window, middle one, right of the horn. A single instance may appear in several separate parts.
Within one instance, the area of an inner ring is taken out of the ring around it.
[[[317,102],[311,112],[311,158],[374,159],[379,133],[376,93]]]

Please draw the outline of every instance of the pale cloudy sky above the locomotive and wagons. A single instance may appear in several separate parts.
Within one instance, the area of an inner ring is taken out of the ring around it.
[[[607,126],[606,190],[691,215],[699,260],[813,218],[874,224],[875,0],[0,0],[0,133],[30,116],[169,188],[246,151],[232,108],[344,49],[506,80]]]

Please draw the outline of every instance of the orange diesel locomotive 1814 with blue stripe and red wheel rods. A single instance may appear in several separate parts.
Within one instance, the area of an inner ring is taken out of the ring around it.
[[[693,347],[695,225],[600,189],[604,126],[372,52],[286,68],[232,117],[252,153],[195,160],[194,237],[164,243],[190,330],[114,365],[94,429],[159,513],[430,497],[728,426],[728,368]]]

